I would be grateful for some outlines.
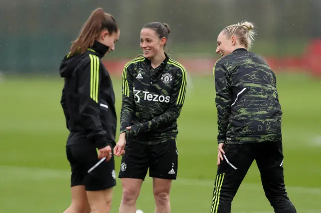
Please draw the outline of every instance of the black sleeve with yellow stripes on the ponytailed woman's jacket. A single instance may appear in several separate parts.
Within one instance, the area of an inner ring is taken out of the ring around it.
[[[107,133],[100,121],[99,90],[101,82],[100,61],[90,54],[80,64],[77,71],[79,94],[80,125],[87,132],[87,137],[94,141],[97,148],[108,145]]]

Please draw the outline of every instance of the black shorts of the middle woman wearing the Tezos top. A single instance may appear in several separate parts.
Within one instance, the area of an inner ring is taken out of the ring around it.
[[[176,179],[178,150],[175,139],[155,145],[126,141],[118,177],[144,180],[148,168],[150,177]]]

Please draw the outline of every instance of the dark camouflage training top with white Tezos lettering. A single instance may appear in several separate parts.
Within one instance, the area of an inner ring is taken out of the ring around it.
[[[124,66],[122,78],[120,133],[147,144],[175,139],[187,86],[185,68],[167,54],[155,69],[139,56]]]

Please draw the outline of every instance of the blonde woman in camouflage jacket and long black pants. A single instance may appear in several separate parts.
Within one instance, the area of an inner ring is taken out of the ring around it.
[[[284,185],[276,76],[249,51],[256,34],[253,27],[247,21],[229,25],[217,38],[216,53],[221,56],[214,65],[218,169],[211,213],[231,212],[232,200],[254,159],[274,211],[296,212]]]

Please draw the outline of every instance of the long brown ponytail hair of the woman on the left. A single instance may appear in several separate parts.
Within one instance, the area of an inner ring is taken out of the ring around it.
[[[94,44],[99,33],[107,29],[109,34],[118,31],[118,26],[113,15],[105,13],[102,8],[95,9],[84,23],[79,36],[72,42],[70,54],[84,52]]]

